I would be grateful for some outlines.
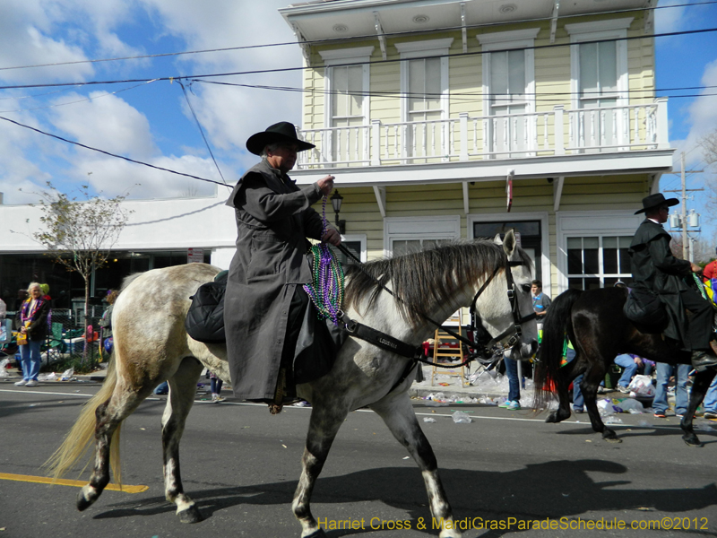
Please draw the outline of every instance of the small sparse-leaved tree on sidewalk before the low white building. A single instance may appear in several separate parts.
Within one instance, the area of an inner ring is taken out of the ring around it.
[[[85,320],[90,309],[91,275],[107,263],[111,248],[133,213],[122,207],[125,195],[101,198],[91,196],[89,188],[82,185],[79,194],[70,197],[48,182],[48,190],[39,193],[36,205],[42,211],[42,229],[32,234],[57,263],[82,276]]]

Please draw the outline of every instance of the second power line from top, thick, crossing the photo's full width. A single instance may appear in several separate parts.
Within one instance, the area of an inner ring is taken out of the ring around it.
[[[610,38],[610,39],[593,39],[589,41],[581,41],[580,45],[588,45],[593,43],[610,43],[610,42],[617,42],[617,41],[633,41],[635,39],[654,39],[654,38],[668,38],[668,37],[675,37],[675,36],[683,36],[683,35],[694,35],[694,34],[702,34],[702,33],[708,33],[717,31],[717,28],[704,28],[699,30],[680,30],[680,31],[671,31],[671,32],[665,32],[661,34],[650,34],[650,35],[639,35],[639,36],[626,36],[624,38]],[[495,50],[478,50],[473,52],[456,52],[456,53],[447,53],[444,55],[436,55],[436,56],[419,56],[419,57],[411,57],[411,58],[392,58],[392,59],[385,59],[385,60],[373,60],[368,61],[360,65],[383,65],[383,64],[393,64],[393,63],[400,63],[400,62],[408,62],[411,60],[417,60],[417,59],[426,59],[428,57],[431,58],[438,58],[438,57],[465,57],[465,56],[482,56],[484,54],[492,54],[497,52],[505,52],[506,50],[541,50],[546,48],[559,48],[559,47],[573,47],[575,43],[551,43],[549,45],[533,45],[531,47],[523,47],[523,48],[505,48],[505,49],[495,49]],[[333,65],[333,67],[345,67],[349,65],[357,65],[356,63],[347,63],[347,64],[336,64]],[[211,74],[194,74],[194,75],[185,75],[185,76],[165,76],[165,77],[155,77],[158,81],[179,81],[179,80],[190,80],[190,79],[203,79],[203,78],[216,78],[221,76],[239,76],[239,75],[246,75],[246,74],[270,74],[270,73],[289,73],[294,71],[306,71],[306,70],[314,70],[314,69],[320,69],[321,67],[316,67],[314,65],[302,65],[300,67],[281,67],[281,68],[273,68],[273,69],[255,69],[252,71],[236,71],[236,72],[228,72],[228,73],[211,73]],[[63,87],[63,86],[77,86],[77,85],[99,85],[99,84],[118,84],[118,83],[136,83],[136,82],[148,82],[152,79],[125,79],[121,81],[90,81],[90,82],[53,82],[53,83],[44,83],[44,84],[13,84],[13,85],[6,85],[6,86],[0,86],[0,90],[17,90],[22,88],[56,88],[56,87]]]

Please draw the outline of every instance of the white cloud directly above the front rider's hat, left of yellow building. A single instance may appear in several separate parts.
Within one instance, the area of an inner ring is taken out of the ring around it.
[[[160,13],[165,26],[185,39],[191,49],[228,48],[270,43],[295,43],[296,38],[277,9],[285,0],[196,3],[193,0],[143,0]],[[184,56],[193,73],[234,73],[263,69],[300,67],[298,45],[249,48]],[[217,80],[241,84],[300,87],[301,72],[253,74]],[[198,102],[193,106],[209,134],[212,145],[246,151],[246,139],[278,121],[298,122],[301,97],[298,92],[267,91],[232,86],[194,84]],[[187,117],[190,112],[185,110]]]

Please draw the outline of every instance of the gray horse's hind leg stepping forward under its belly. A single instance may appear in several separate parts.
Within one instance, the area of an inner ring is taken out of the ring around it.
[[[194,357],[186,357],[169,379],[169,397],[162,415],[162,448],[164,460],[164,495],[177,505],[182,523],[202,520],[194,500],[185,494],[179,471],[179,440],[185,430],[186,415],[194,404],[196,382],[202,374],[202,364]]]

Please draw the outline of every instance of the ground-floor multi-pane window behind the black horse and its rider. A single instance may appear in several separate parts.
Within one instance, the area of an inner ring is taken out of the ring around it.
[[[627,249],[632,236],[586,235],[566,238],[567,287],[575,290],[609,288],[632,282]]]

